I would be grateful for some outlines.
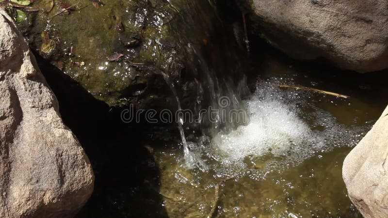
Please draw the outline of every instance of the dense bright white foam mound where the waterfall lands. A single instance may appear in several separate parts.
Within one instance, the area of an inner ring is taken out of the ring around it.
[[[291,144],[310,139],[311,130],[290,108],[273,97],[255,96],[248,102],[250,123],[228,135],[218,135],[213,143],[233,160],[245,156],[285,155]]]

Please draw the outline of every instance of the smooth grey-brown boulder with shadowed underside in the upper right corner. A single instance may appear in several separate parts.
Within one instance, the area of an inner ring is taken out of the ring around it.
[[[387,0],[246,2],[258,34],[293,58],[324,57],[358,72],[388,67]]]

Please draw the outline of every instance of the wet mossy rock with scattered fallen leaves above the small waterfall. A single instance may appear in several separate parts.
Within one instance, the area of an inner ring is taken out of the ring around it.
[[[219,25],[207,0],[109,0],[98,9],[90,0],[68,2],[80,3],[66,15],[55,16],[62,10],[57,5],[48,14],[27,13],[25,35],[32,49],[97,99],[110,106],[155,108],[159,102],[175,108],[173,98],[166,101],[171,91],[163,75],[179,83],[180,93],[196,93],[195,52],[210,47],[213,25]],[[42,47],[47,42],[54,42],[50,52]]]

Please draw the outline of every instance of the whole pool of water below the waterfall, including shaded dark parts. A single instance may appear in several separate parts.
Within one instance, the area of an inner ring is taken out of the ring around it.
[[[200,163],[191,167],[176,127],[139,134],[142,140],[135,144],[146,155],[127,153],[128,159],[118,161],[124,165],[119,172],[101,175],[109,167],[92,155],[96,190],[79,217],[361,218],[347,196],[341,168],[387,104],[381,101],[385,72],[355,74],[295,62],[276,51],[262,58],[253,67],[261,72],[251,82],[255,91],[242,102],[250,122],[227,134],[186,134]],[[277,83],[349,98],[282,89]],[[118,166],[114,163],[111,167]],[[109,182],[105,176],[111,176]],[[101,187],[101,180],[108,187]]]

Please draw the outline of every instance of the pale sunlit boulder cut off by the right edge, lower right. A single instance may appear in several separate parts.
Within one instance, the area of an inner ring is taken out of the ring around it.
[[[365,218],[388,217],[388,108],[345,158],[349,197]]]

